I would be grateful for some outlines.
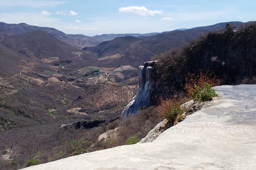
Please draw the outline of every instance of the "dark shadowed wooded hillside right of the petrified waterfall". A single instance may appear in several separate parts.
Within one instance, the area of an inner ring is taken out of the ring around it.
[[[153,95],[159,96],[169,89],[182,91],[188,73],[198,69],[214,72],[222,84],[255,83],[256,24],[248,23],[239,30],[209,33],[191,41],[183,48],[173,49],[158,58],[157,85]]]

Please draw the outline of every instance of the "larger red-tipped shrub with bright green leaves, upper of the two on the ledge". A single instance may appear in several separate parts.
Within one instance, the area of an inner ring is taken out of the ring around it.
[[[198,70],[198,74],[188,73],[185,90],[188,97],[197,101],[212,100],[216,96],[213,86],[218,86],[220,81],[209,70]]]

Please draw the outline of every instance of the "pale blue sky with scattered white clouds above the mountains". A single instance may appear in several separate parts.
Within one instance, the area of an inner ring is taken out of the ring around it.
[[[255,21],[255,0],[0,0],[0,22],[86,36],[149,33]]]

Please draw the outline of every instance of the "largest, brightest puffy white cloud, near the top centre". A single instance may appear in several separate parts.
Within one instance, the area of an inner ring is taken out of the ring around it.
[[[118,9],[119,12],[126,12],[126,13],[134,13],[139,14],[142,16],[154,16],[155,14],[162,14],[163,11],[151,11],[148,10],[145,6],[139,7],[139,6],[130,6],[130,7],[121,7]]]

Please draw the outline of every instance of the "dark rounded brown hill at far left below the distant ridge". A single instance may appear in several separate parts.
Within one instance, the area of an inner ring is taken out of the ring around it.
[[[58,57],[59,60],[75,57],[77,48],[74,48],[54,38],[44,31],[30,31],[19,35],[6,36],[1,44],[31,58]]]

